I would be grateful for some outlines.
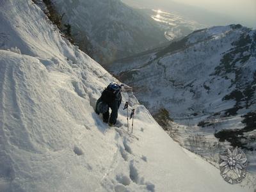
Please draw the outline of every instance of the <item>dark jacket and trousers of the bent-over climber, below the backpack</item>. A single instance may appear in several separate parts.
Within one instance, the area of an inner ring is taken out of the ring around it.
[[[96,107],[95,107],[95,112],[99,115],[99,111],[97,111],[97,106],[99,104],[99,102],[102,101],[102,95],[100,96],[100,98],[97,100],[96,103]],[[104,100],[104,102],[106,102],[106,100]],[[115,95],[115,98],[111,101],[111,102],[106,102],[108,104],[108,107],[111,108],[111,115],[109,118],[109,110],[106,113],[103,113],[103,120],[104,122],[108,122],[109,119],[109,123],[110,124],[116,124],[116,119],[118,116],[118,108],[120,107],[120,104],[122,102],[122,95],[121,93],[118,93]]]

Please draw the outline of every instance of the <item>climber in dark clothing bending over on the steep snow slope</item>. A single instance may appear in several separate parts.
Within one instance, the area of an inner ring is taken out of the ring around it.
[[[122,101],[121,86],[117,83],[110,83],[108,87],[101,93],[97,100],[95,112],[99,115],[102,113],[103,122],[113,126],[116,124],[118,116],[118,108]],[[109,108],[111,108],[111,115],[109,118]]]

